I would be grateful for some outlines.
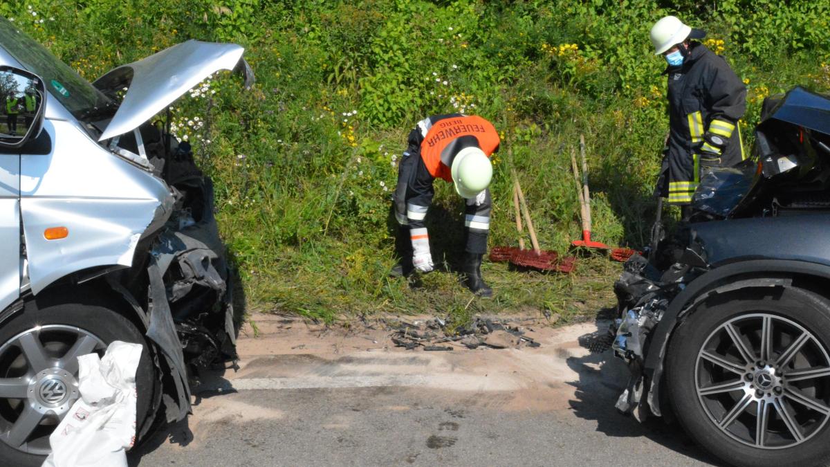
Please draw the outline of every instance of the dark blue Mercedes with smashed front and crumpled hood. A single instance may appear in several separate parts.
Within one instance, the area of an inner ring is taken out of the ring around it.
[[[618,409],[674,415],[732,465],[830,458],[830,96],[764,101],[753,157],[706,173],[615,283]]]

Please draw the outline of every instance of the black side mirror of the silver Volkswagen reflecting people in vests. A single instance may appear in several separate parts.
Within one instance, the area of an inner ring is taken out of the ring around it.
[[[19,148],[43,127],[43,80],[20,68],[0,66],[0,106],[0,148]]]

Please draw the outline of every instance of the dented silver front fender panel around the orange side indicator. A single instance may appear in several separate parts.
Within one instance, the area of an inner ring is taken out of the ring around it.
[[[164,224],[173,199],[164,181],[113,157],[68,121],[46,120],[48,155],[21,157],[21,212],[32,292],[84,268],[132,266],[151,226]],[[69,235],[46,240],[45,229]]]

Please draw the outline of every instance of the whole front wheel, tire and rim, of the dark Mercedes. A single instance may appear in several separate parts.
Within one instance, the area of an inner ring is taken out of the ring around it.
[[[827,465],[828,351],[825,297],[792,287],[715,295],[673,334],[672,410],[692,438],[731,465]],[[805,395],[812,401],[804,403]]]

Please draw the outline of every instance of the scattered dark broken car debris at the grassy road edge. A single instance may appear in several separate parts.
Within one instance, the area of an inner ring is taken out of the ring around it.
[[[390,338],[396,347],[404,347],[407,350],[423,347],[425,351],[450,351],[453,347],[437,345],[447,342],[457,343],[470,349],[540,347],[539,342],[525,336],[524,327],[482,317],[476,317],[466,326],[457,327],[454,330],[448,329],[447,322],[440,318],[432,318],[424,322],[399,322]]]

